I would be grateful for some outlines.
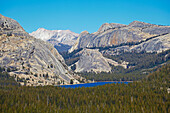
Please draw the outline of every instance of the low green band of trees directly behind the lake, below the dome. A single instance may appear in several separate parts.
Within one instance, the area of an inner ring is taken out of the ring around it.
[[[145,78],[150,71],[133,71],[129,73],[125,73],[126,70],[122,67],[112,67],[114,68],[114,72],[82,72],[78,73],[80,76],[95,81],[137,81]],[[122,70],[122,71],[121,71]]]

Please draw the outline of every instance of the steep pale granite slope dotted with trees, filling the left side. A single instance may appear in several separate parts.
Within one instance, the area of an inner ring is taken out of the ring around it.
[[[11,18],[0,15],[0,66],[21,85],[79,83],[49,43],[30,36]]]

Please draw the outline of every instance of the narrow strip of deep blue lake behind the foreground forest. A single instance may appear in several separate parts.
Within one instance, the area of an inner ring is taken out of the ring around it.
[[[78,88],[78,87],[95,87],[95,86],[101,86],[105,84],[113,84],[113,83],[124,83],[128,84],[130,82],[95,82],[95,83],[86,83],[86,84],[74,84],[74,85],[61,85],[59,87],[64,87],[64,88]]]

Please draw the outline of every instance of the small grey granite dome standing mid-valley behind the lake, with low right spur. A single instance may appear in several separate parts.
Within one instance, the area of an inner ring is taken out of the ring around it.
[[[80,53],[80,60],[75,63],[75,72],[111,72],[109,64],[126,68],[125,63],[118,64],[116,61],[105,58],[97,49],[83,49]]]

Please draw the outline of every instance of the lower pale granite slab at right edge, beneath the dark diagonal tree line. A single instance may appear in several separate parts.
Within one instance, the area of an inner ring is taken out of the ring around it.
[[[170,49],[170,33],[153,37],[141,42],[140,44],[132,46],[120,46],[116,48],[109,48],[102,50],[102,54],[106,55],[119,55],[122,52],[148,52],[148,53],[161,53]]]

